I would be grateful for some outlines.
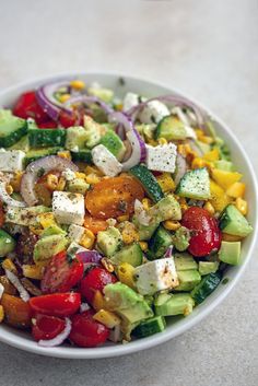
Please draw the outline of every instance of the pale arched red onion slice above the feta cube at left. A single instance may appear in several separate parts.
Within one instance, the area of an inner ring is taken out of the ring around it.
[[[66,168],[70,168],[73,172],[78,171],[78,166],[71,161],[57,155],[48,155],[28,164],[21,182],[21,194],[24,201],[31,207],[37,203],[38,199],[34,185],[39,174],[46,174],[50,171],[63,172]]]

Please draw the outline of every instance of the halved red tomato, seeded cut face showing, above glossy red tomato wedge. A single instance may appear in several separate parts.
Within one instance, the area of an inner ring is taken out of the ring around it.
[[[69,260],[67,253],[52,256],[47,266],[40,286],[43,293],[68,292],[83,276],[83,262],[80,257]]]

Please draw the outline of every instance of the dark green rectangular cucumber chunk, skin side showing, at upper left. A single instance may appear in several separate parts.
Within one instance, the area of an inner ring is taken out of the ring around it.
[[[28,142],[32,148],[64,147],[66,137],[64,129],[28,130]]]

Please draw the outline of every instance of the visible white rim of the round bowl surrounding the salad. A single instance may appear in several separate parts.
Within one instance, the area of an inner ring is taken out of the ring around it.
[[[169,87],[169,85],[161,85],[152,83],[150,81],[140,80],[131,77],[124,77],[125,83],[121,82],[120,75],[106,74],[106,73],[68,73],[61,74],[51,78],[38,79],[35,81],[30,81],[21,83],[16,86],[12,86],[8,90],[4,90],[0,93],[0,106],[11,106],[15,98],[19,97],[21,93],[26,90],[37,87],[40,84],[49,82],[57,79],[74,79],[80,78],[85,80],[89,84],[91,82],[98,82],[103,86],[110,87],[115,90],[116,94],[122,96],[127,91],[136,92],[146,96],[157,96],[162,94],[180,94],[178,91],[175,91]],[[183,95],[190,98],[187,95]],[[248,160],[248,156],[241,145],[239,141],[235,138],[230,128],[220,120],[209,109],[201,106],[198,102],[191,100],[207,113],[209,113],[216,121],[216,130],[219,136],[221,136],[226,143],[228,144],[232,159],[237,169],[243,173],[244,182],[247,185],[246,198],[249,203],[248,219],[254,226],[254,232],[249,235],[243,243],[242,248],[242,258],[243,262],[239,267],[231,267],[226,272],[226,278],[228,282],[226,284],[220,284],[218,289],[199,306],[195,308],[191,315],[186,318],[177,318],[167,320],[167,328],[161,334],[153,335],[149,338],[134,340],[127,344],[106,344],[104,347],[95,349],[81,349],[75,347],[56,347],[56,348],[43,348],[39,347],[32,338],[31,335],[24,331],[20,331],[8,327],[4,324],[0,326],[0,340],[15,348],[31,351],[37,354],[57,356],[57,358],[69,358],[69,359],[93,359],[93,358],[108,358],[108,356],[118,356],[124,354],[129,354],[140,350],[149,349],[151,347],[166,342],[167,340],[183,334],[184,331],[190,329],[197,323],[199,323],[203,317],[212,312],[230,293],[236,282],[239,280],[243,274],[245,267],[248,260],[251,257],[253,248],[255,245],[255,238],[257,233],[257,184],[254,169]],[[237,316],[236,316],[237,317]],[[241,316],[238,316],[241,317]]]

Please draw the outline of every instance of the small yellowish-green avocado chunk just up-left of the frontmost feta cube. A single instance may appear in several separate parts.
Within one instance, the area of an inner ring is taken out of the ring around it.
[[[122,247],[119,252],[112,256],[110,260],[115,265],[129,262],[132,267],[138,267],[142,264],[143,254],[138,243]]]

